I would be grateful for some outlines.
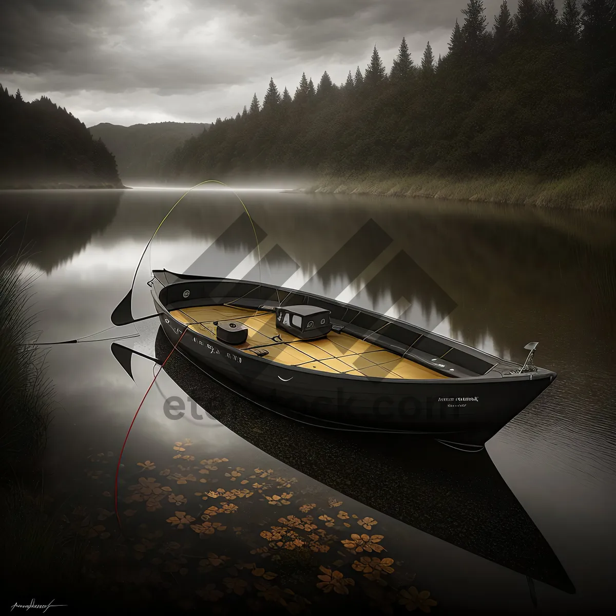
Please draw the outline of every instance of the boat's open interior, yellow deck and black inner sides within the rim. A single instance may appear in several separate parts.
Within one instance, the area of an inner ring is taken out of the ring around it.
[[[370,310],[271,285],[199,278],[156,270],[158,299],[177,322],[211,339],[216,323],[248,330],[233,348],[285,366],[326,373],[392,379],[502,378],[519,365],[461,342]],[[188,293],[188,294],[187,294]],[[276,310],[315,306],[329,312],[332,330],[300,339],[277,327]]]

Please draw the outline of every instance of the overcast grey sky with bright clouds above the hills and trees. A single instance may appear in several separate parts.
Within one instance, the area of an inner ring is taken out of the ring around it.
[[[490,23],[501,0],[485,0]],[[0,0],[0,82],[44,94],[86,126],[213,122],[270,77],[341,83],[402,36],[415,62],[447,52],[466,0]],[[509,0],[514,12],[516,0]]]

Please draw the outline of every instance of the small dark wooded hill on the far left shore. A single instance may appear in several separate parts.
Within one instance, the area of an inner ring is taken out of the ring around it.
[[[0,142],[0,188],[122,187],[105,144],[45,96],[0,85]]]

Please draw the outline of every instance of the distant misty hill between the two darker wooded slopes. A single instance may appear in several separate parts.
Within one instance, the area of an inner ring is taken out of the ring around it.
[[[95,139],[102,139],[115,155],[120,175],[126,180],[158,177],[161,164],[189,137],[200,135],[211,124],[156,122],[152,124],[102,123],[91,126]]]

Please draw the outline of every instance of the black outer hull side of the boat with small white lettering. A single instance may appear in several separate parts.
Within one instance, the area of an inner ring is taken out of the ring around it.
[[[482,445],[553,381],[554,373],[409,381],[290,369],[240,353],[172,317],[153,290],[164,333],[182,352],[264,402],[330,427],[432,434]]]

